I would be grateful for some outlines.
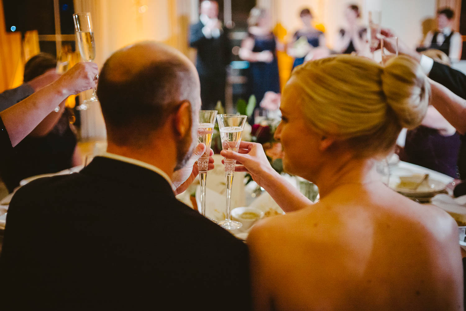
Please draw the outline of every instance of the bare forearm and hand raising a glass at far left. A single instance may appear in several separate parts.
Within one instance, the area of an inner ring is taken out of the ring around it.
[[[62,101],[93,88],[98,72],[92,62],[78,63],[57,81],[41,88],[33,95],[0,112],[12,146],[16,146]]]

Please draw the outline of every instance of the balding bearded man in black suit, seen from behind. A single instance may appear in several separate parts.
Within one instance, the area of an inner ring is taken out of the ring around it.
[[[248,310],[246,245],[175,198],[205,150],[194,66],[139,43],[105,62],[97,95],[107,153],[11,201],[1,309]]]

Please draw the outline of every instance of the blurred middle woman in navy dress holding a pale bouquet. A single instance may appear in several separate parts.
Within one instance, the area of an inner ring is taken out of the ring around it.
[[[302,28],[295,32],[293,40],[287,53],[295,57],[293,68],[304,62],[306,55],[314,47],[325,47],[325,36],[322,31],[315,29],[312,25],[313,15],[308,8],[302,9],[299,14],[302,21]]]

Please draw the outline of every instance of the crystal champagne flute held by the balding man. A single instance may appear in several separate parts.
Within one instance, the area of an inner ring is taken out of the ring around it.
[[[213,128],[217,110],[199,111],[198,142],[206,145],[206,152],[198,160],[199,182],[201,184],[201,214],[206,216],[206,181],[209,166],[210,145],[212,143]],[[209,218],[209,217],[207,217]],[[214,223],[215,219],[209,218]]]

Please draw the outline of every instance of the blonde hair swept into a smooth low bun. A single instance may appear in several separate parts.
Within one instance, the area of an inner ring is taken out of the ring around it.
[[[385,67],[351,55],[308,61],[290,83],[301,89],[298,104],[309,125],[345,141],[356,157],[388,154],[402,128],[421,123],[430,97],[427,77],[407,56]]]

